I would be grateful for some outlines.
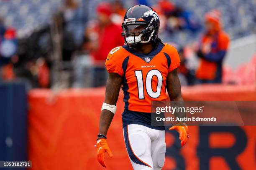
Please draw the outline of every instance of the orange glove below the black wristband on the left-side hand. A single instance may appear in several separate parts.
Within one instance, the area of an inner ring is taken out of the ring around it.
[[[97,140],[96,147],[97,147],[97,159],[98,159],[98,162],[100,163],[100,165],[102,165],[103,167],[107,168],[106,164],[105,164],[105,160],[104,160],[105,152],[108,153],[110,158],[113,157],[112,152],[110,151],[110,148],[108,146],[107,140],[105,138],[101,138],[101,139]]]

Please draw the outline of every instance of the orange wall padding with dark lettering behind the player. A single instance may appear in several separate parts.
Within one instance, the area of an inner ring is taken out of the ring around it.
[[[68,89],[60,92],[35,89],[29,92],[28,112],[28,160],[33,170],[102,170],[97,163],[96,135],[98,133],[100,110],[105,88]],[[198,85],[182,87],[184,100],[256,100],[254,86]],[[131,163],[123,141],[121,113],[123,94],[120,93],[117,112],[108,131],[108,144],[113,158],[106,155],[108,170],[131,170]],[[255,167],[256,127],[242,127],[246,133],[246,148],[237,158],[239,166],[245,170]],[[176,135],[178,135],[176,133]],[[222,134],[223,135],[223,134]],[[199,127],[189,127],[189,141],[180,150],[187,170],[197,170]],[[220,144],[221,135],[211,135],[209,145]],[[232,135],[225,139],[232,140]],[[202,142],[202,141],[201,141]],[[174,144],[174,135],[168,133],[167,147]],[[223,147],[220,146],[221,147]],[[217,164],[218,163],[218,164]],[[227,163],[219,157],[210,160],[210,169],[226,170]],[[166,157],[163,170],[175,168],[175,159]]]

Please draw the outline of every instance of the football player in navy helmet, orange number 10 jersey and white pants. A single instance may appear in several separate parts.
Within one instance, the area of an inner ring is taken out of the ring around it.
[[[97,159],[106,167],[104,153],[112,153],[107,131],[116,111],[120,87],[124,92],[122,114],[125,146],[134,170],[161,170],[165,158],[165,127],[151,125],[151,102],[182,101],[177,68],[179,55],[158,38],[159,16],[151,7],[136,5],[127,10],[122,24],[125,45],[115,47],[106,60],[109,72],[97,135]],[[183,146],[188,128],[184,122],[170,130],[179,132]]]

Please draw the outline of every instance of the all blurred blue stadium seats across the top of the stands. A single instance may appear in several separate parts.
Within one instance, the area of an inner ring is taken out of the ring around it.
[[[81,2],[81,0],[78,1]],[[95,7],[101,1],[89,0],[86,5],[80,5],[80,7],[88,9],[89,18],[95,18]],[[61,0],[32,0],[32,2],[31,0],[1,0],[0,16],[5,18],[8,25],[18,30],[25,29],[49,21],[51,14],[61,6],[61,2]],[[151,5],[156,3],[155,0],[148,0],[148,2]],[[256,23],[256,0],[172,0],[172,2],[193,11],[201,21],[208,10],[217,8],[223,15],[223,27],[231,39],[249,35],[255,29],[253,25]],[[124,1],[124,4],[126,7],[133,5],[131,1]],[[185,31],[169,35],[168,39],[185,44],[195,40],[196,37],[191,32]]]

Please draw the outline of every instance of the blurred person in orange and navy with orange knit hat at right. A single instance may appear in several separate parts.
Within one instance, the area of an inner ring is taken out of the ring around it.
[[[222,62],[228,50],[229,37],[221,28],[220,17],[218,10],[211,10],[205,15],[206,32],[197,50],[200,65],[196,77],[200,83],[221,83],[222,80]]]

